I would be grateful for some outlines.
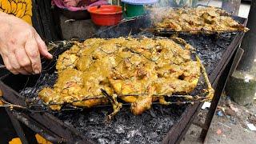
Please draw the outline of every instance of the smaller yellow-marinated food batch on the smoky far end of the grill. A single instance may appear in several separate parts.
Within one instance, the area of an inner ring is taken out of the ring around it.
[[[152,16],[158,19],[155,26],[159,30],[194,34],[249,30],[231,18],[226,11],[214,7],[158,9],[153,10]]]

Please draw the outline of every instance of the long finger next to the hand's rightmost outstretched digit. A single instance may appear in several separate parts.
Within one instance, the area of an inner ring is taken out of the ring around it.
[[[42,70],[40,53],[38,50],[38,42],[34,37],[30,37],[26,40],[25,50],[27,56],[30,58],[32,70],[34,74],[39,74]]]

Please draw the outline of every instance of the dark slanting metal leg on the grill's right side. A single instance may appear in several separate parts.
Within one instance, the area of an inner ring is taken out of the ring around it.
[[[221,98],[221,94],[226,86],[227,79],[229,78],[230,74],[232,74],[234,72],[236,66],[238,66],[238,62],[241,59],[242,54],[243,54],[243,50],[239,48],[237,50],[237,52],[234,54],[234,56],[230,59],[230,62],[227,64],[225,70],[223,70],[223,73],[221,74],[221,76],[218,79],[218,84],[215,89],[214,98],[211,102],[209,112],[206,116],[206,121],[201,126],[202,131],[200,134],[200,138],[202,139],[203,142],[206,142],[206,135],[210,128],[210,123],[212,122],[212,119],[214,118],[214,114],[215,114],[216,108],[218,106],[219,99]]]

